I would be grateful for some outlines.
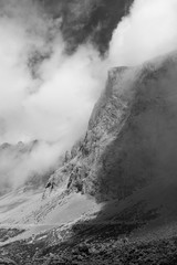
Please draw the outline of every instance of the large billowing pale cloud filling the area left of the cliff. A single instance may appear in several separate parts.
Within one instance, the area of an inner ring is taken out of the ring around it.
[[[23,156],[1,153],[1,183],[8,176],[18,188],[54,167],[84,134],[106,65],[91,44],[67,55],[61,19],[32,0],[0,3],[0,142],[42,142]]]

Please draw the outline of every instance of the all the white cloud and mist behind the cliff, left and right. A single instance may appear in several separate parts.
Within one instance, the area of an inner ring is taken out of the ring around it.
[[[53,19],[32,0],[0,1],[0,144],[39,140],[21,156],[3,151],[0,184],[44,174],[85,132],[107,70],[176,50],[176,0],[136,0],[113,32],[107,56],[92,43],[69,55]],[[8,176],[8,177],[7,177]]]

